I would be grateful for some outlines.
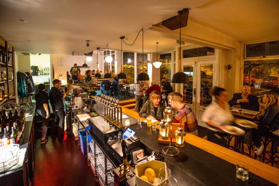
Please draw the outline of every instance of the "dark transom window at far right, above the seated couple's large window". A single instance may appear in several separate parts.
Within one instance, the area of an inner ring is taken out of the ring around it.
[[[279,55],[279,41],[246,45],[246,58]]]

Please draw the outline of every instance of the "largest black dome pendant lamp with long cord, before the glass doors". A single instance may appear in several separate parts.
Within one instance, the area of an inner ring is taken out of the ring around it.
[[[188,11],[188,9],[187,9]],[[189,78],[188,76],[182,71],[182,64],[181,64],[181,15],[183,11],[178,11],[179,15],[179,61],[178,61],[178,72],[175,73],[171,78],[171,83],[188,83]]]

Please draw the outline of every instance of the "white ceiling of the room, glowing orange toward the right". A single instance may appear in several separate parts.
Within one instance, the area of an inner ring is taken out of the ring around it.
[[[16,51],[82,55],[107,43],[120,49],[120,36],[131,43],[144,28],[144,51],[156,52],[159,42],[165,52],[176,41],[148,28],[183,8],[190,9],[190,21],[239,41],[279,35],[279,0],[0,0],[0,35]],[[139,37],[124,50],[141,51]],[[93,40],[90,47],[86,40]]]

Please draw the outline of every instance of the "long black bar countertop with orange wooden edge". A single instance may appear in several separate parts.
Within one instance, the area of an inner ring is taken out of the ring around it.
[[[96,107],[100,106],[96,105]],[[102,109],[94,109],[99,114],[102,113]],[[133,121],[140,118],[139,114],[124,107],[122,109],[123,113],[129,116],[130,128],[137,132],[136,136],[146,147],[145,150],[148,153],[157,150],[162,152],[162,149],[167,145],[157,142],[158,130],[152,131],[151,127],[147,127],[144,123],[141,124],[141,128],[138,127]],[[80,114],[81,112],[75,111],[75,113]],[[103,144],[93,131],[86,131],[112,164],[118,167],[122,162],[108,150],[107,145]],[[179,150],[178,156],[165,155],[164,159],[167,167],[171,170],[172,177],[177,179],[178,186],[276,186],[279,184],[279,170],[277,168],[194,135],[186,134],[185,147],[179,148]],[[248,181],[244,182],[236,178],[236,164],[248,167]],[[126,184],[134,186],[135,179],[128,180]]]

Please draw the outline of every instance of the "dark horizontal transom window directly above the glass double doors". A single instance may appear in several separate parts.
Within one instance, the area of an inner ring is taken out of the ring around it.
[[[201,56],[213,56],[215,54],[214,48],[200,47],[183,50],[183,58],[193,58]]]

